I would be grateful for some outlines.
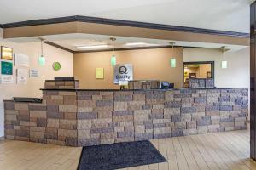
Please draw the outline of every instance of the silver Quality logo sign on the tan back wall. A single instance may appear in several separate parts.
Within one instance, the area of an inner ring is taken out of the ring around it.
[[[131,64],[115,65],[113,83],[119,84],[119,81],[133,80],[133,69]]]

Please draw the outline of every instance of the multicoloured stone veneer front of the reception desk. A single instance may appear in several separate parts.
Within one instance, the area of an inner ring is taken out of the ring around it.
[[[87,146],[247,128],[245,88],[42,90],[43,103],[4,101],[6,139]]]

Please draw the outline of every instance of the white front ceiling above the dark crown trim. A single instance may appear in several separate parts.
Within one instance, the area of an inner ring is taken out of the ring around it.
[[[71,15],[249,32],[252,0],[1,0],[0,23]]]

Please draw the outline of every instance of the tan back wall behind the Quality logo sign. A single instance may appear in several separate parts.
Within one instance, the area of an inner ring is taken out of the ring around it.
[[[170,67],[172,48],[116,51],[118,64],[133,65],[134,80],[160,80],[183,85],[183,48],[174,48],[177,67]],[[112,52],[74,54],[74,76],[80,88],[119,88],[113,84]],[[104,68],[104,79],[95,78],[95,68]]]

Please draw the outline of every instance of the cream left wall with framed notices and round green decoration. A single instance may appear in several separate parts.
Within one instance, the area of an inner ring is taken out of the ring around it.
[[[0,33],[1,36],[1,33]],[[26,54],[30,59],[30,68],[38,69],[39,77],[29,78],[26,85],[1,84],[0,83],[0,137],[3,136],[3,99],[12,97],[42,97],[39,88],[44,88],[44,80],[54,77],[73,76],[73,54],[67,53],[61,49],[44,44],[44,56],[46,65],[38,65],[38,56],[40,55],[40,43],[15,43],[3,40],[0,37],[0,46],[4,45],[13,48],[15,53]],[[59,61],[61,70],[54,71],[52,63]],[[15,74],[15,69],[14,69]],[[1,75],[0,75],[1,76]]]

